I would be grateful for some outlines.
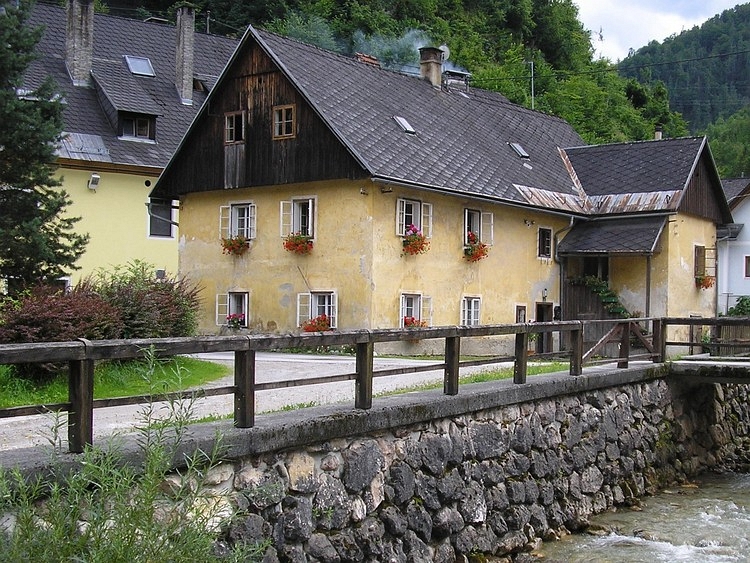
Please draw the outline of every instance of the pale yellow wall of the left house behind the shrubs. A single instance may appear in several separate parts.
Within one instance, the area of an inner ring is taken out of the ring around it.
[[[153,186],[156,178],[97,171],[101,181],[93,191],[87,187],[92,172],[60,171],[62,187],[72,200],[67,213],[72,217],[81,217],[76,231],[90,236],[86,252],[77,263],[81,269],[70,276],[72,283],[75,284],[97,268],[109,268],[136,259],[176,275],[176,229],[173,238],[149,236],[146,202],[152,188],[146,182]]]

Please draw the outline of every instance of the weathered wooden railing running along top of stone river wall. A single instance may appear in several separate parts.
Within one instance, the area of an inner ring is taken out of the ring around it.
[[[591,350],[584,353],[583,328],[586,323],[609,322],[613,329]],[[664,361],[667,345],[689,345],[689,342],[668,342],[667,326],[680,324],[701,326],[728,324],[724,319],[625,319],[621,321],[558,321],[548,323],[526,323],[508,325],[486,325],[479,327],[434,327],[400,330],[355,330],[341,332],[305,333],[300,335],[238,335],[202,336],[194,338],[166,338],[144,340],[98,340],[79,339],[71,342],[46,342],[36,344],[0,345],[0,364],[65,362],[69,365],[68,402],[30,405],[0,409],[0,418],[26,416],[50,411],[68,413],[68,446],[71,452],[82,452],[93,443],[93,411],[95,408],[143,404],[153,401],[178,400],[195,396],[196,391],[178,391],[157,396],[140,395],[109,399],[94,399],[94,363],[101,360],[136,359],[153,347],[157,356],[168,357],[207,352],[234,352],[234,385],[200,389],[202,397],[234,395],[234,424],[238,428],[250,428],[255,424],[255,393],[268,389],[280,389],[318,383],[355,381],[354,406],[358,409],[372,407],[373,378],[433,371],[442,369],[443,392],[456,395],[461,367],[513,362],[513,382],[526,383],[528,367],[528,342],[530,334],[560,333],[566,336],[567,350],[555,353],[568,358],[570,375],[581,375],[584,363],[596,363],[597,350],[606,342],[619,343],[617,366],[628,367],[635,357],[654,362]],[[644,334],[643,327],[653,327],[652,336]],[[731,324],[742,324],[740,322]],[[745,324],[749,324],[745,319]],[[512,356],[493,356],[480,360],[460,361],[461,339],[472,337],[494,337],[512,335]],[[409,366],[397,369],[373,369],[376,343],[418,339],[444,339],[445,353],[442,363]],[[631,356],[631,339],[641,344],[646,353]],[[562,339],[561,339],[562,340]],[[255,356],[258,351],[316,348],[320,346],[351,346],[356,350],[355,371],[349,374],[304,378],[295,380],[256,382]],[[546,356],[542,354],[541,356]],[[534,356],[539,357],[539,355]],[[611,362],[611,359],[606,361]]]

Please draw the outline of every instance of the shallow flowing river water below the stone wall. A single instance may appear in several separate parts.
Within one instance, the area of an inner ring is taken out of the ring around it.
[[[750,474],[703,476],[590,522],[600,531],[545,542],[541,561],[750,562]]]

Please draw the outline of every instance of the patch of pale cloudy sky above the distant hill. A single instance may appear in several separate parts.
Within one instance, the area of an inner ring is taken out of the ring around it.
[[[573,0],[578,19],[592,32],[595,58],[624,59],[630,48],[700,26],[738,0]],[[601,35],[599,30],[601,29]]]

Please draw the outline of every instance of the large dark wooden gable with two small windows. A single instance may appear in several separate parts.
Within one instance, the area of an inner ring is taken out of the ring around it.
[[[179,194],[366,177],[302,94],[252,38],[246,41],[160,179]],[[273,138],[273,111],[293,106],[294,135]],[[225,116],[244,112],[244,140],[226,144]]]

